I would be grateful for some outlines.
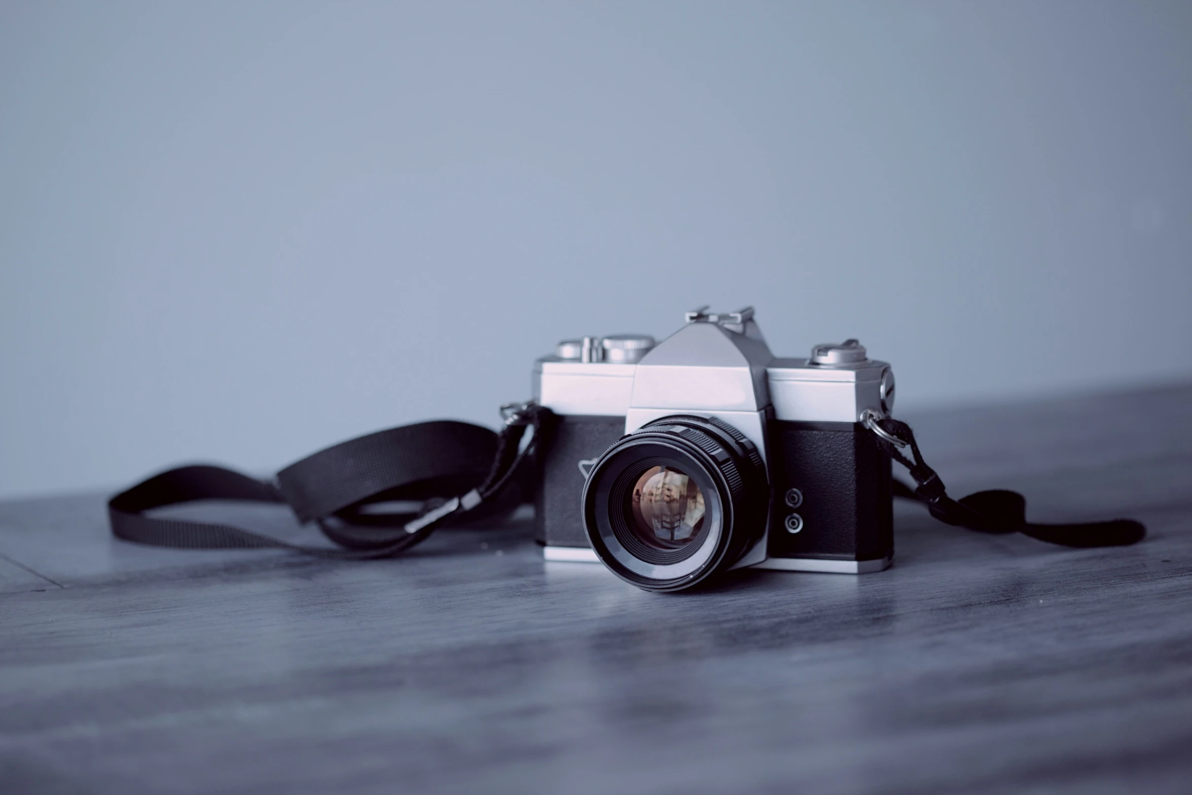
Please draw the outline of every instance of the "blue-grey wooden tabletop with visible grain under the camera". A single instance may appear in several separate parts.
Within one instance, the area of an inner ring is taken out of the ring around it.
[[[955,496],[1149,538],[900,504],[889,571],[659,595],[544,564],[524,517],[342,563],[0,503],[0,791],[1192,791],[1192,386],[911,420]]]

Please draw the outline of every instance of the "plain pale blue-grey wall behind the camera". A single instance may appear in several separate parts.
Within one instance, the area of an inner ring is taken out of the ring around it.
[[[1187,2],[0,2],[0,495],[493,424],[702,303],[904,409],[1186,378],[1190,86]]]

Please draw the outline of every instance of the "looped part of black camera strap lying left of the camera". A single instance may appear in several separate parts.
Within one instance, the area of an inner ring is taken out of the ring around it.
[[[154,476],[107,503],[112,533],[126,541],[190,549],[279,547],[324,558],[397,554],[453,517],[513,508],[502,501],[532,453],[547,410],[502,406],[499,434],[466,422],[421,422],[319,451],[263,482],[218,466],[184,466]],[[522,443],[526,430],[533,434]],[[300,522],[316,522],[339,547],[290,544],[229,524],[153,516],[199,499],[286,503]],[[383,502],[421,503],[416,514],[374,513]],[[502,503],[505,504],[502,504]]]

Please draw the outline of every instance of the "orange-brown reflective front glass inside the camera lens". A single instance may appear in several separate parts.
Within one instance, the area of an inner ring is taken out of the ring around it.
[[[703,493],[678,470],[654,466],[633,486],[637,534],[653,546],[677,548],[703,527]]]

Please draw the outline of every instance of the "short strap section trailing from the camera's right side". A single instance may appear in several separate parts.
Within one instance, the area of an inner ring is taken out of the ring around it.
[[[1026,521],[1026,498],[1017,491],[995,489],[952,499],[944,490],[944,482],[923,460],[911,426],[893,417],[882,417],[871,409],[865,411],[862,421],[877,436],[882,449],[905,466],[914,478],[913,491],[895,480],[894,496],[926,503],[931,515],[945,524],[967,527],[981,533],[1022,533],[1039,541],[1067,547],[1128,546],[1147,535],[1147,528],[1141,522],[1129,518],[1073,524],[1033,524]],[[902,454],[907,448],[911,449],[913,460]]]

